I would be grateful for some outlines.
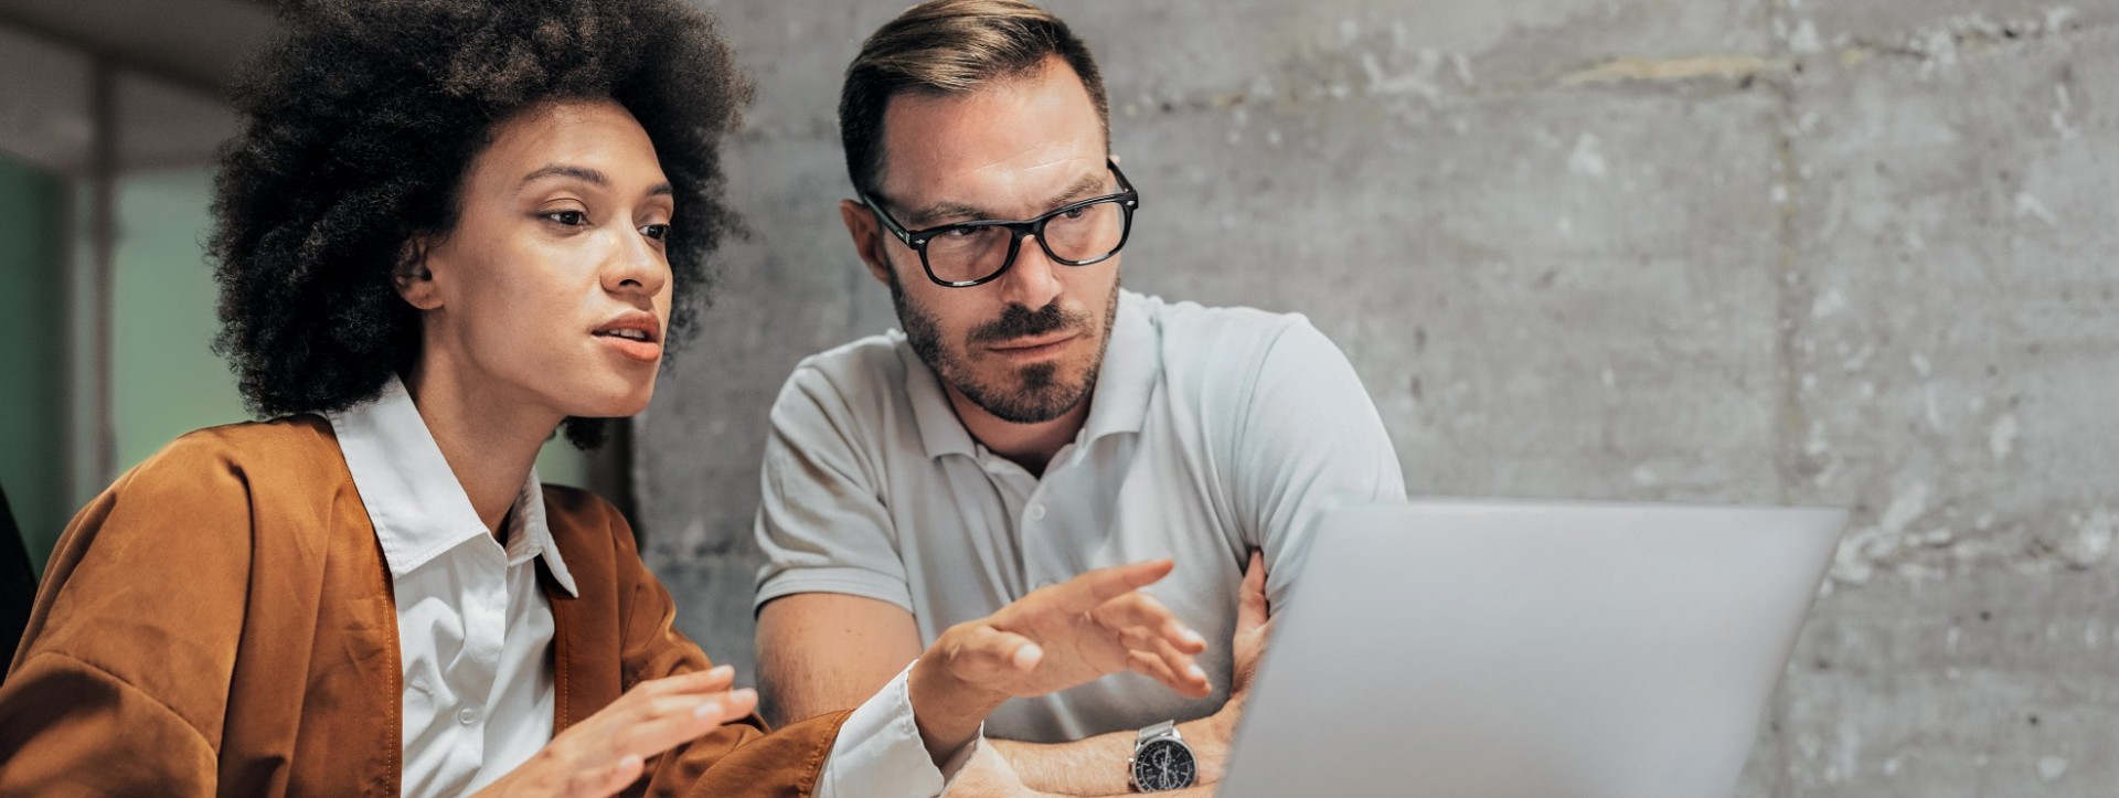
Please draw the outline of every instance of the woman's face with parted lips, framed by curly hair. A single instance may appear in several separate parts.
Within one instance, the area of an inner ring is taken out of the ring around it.
[[[400,277],[424,315],[424,379],[553,423],[646,409],[674,210],[655,144],[623,106],[555,102],[502,121],[464,176],[456,229]]]

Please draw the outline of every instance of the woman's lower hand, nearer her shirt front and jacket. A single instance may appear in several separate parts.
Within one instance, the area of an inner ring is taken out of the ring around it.
[[[729,690],[735,669],[640,682],[610,707],[559,732],[479,796],[602,798],[640,779],[646,758],[750,715],[756,690]]]

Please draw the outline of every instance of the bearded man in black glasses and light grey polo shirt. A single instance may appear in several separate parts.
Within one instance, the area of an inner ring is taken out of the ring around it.
[[[1036,6],[913,6],[848,68],[839,127],[858,197],[839,214],[903,332],[803,360],[773,404],[769,711],[860,705],[951,624],[1172,557],[1148,593],[1208,635],[1214,694],[1110,677],[1011,701],[985,726],[998,758],[956,790],[1212,783],[1310,527],[1405,493],[1360,379],[1301,315],[1119,288],[1144,199],[1096,61]]]

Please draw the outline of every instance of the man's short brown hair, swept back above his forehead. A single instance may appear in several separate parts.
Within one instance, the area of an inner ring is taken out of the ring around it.
[[[962,95],[994,80],[1036,74],[1057,55],[1089,91],[1110,142],[1104,76],[1060,17],[1021,0],[928,0],[907,8],[860,44],[839,91],[839,140],[854,188],[877,193],[884,182],[884,110],[890,97]]]

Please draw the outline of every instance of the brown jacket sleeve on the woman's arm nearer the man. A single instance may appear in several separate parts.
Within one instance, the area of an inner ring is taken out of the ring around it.
[[[676,631],[670,591],[640,561],[631,529],[612,508],[612,538],[619,546],[619,588],[623,599],[625,686],[665,675],[710,669],[712,663],[684,633]],[[720,726],[689,745],[646,762],[648,796],[809,796],[848,711],[835,711],[767,730],[750,715]]]

